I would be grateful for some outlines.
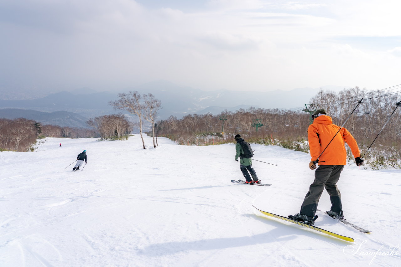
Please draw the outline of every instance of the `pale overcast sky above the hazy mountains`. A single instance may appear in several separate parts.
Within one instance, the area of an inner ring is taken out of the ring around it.
[[[0,0],[0,88],[382,89],[399,0]]]

